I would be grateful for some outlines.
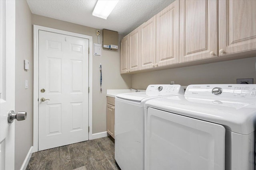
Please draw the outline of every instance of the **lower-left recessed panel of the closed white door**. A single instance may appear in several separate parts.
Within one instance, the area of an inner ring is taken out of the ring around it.
[[[48,135],[61,133],[62,108],[61,104],[50,104],[47,109]]]

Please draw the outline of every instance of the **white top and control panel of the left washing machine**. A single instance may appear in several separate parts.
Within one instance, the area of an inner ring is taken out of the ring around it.
[[[141,102],[145,98],[167,95],[183,95],[184,89],[178,84],[151,84],[146,92],[123,93],[116,95],[116,98]]]

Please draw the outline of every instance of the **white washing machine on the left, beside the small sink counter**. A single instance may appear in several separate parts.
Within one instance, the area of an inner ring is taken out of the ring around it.
[[[144,104],[152,98],[184,95],[178,85],[149,85],[146,92],[115,99],[115,159],[122,170],[144,170]]]

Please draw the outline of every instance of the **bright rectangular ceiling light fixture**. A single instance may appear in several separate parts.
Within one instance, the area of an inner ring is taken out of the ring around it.
[[[106,20],[117,3],[118,0],[98,0],[92,15]]]

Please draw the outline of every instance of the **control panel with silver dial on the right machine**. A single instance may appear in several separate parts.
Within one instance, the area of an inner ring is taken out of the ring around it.
[[[256,84],[192,84],[185,95],[256,99]]]

